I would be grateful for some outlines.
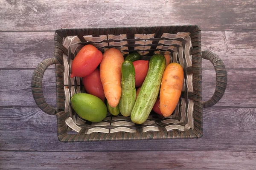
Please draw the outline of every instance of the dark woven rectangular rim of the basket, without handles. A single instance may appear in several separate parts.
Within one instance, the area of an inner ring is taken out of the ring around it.
[[[59,73],[61,72],[61,70],[63,70],[63,54],[68,54],[68,51],[66,48],[63,48],[63,38],[67,37],[67,36],[73,36],[73,35],[77,35],[77,34],[83,34],[84,32],[86,33],[95,33],[99,34],[100,31],[105,31],[105,30],[125,30],[125,31],[132,31],[134,34],[134,31],[136,32],[137,30],[145,30],[145,29],[173,29],[175,31],[179,31],[179,30],[183,30],[184,28],[187,27],[192,27],[193,30],[196,31],[192,31],[190,32],[191,34],[193,33],[197,33],[197,35],[195,36],[197,38],[197,40],[199,40],[199,45],[196,46],[196,48],[194,48],[194,50],[190,50],[191,51],[191,55],[195,56],[195,57],[201,57],[201,29],[198,25],[183,25],[183,26],[136,26],[136,27],[111,27],[111,28],[72,28],[72,29],[58,29],[55,31],[55,51],[57,51],[57,53],[55,53],[55,57],[58,59],[58,61],[60,62],[60,64],[56,64],[56,88],[57,88],[57,122],[58,122],[58,129],[57,129],[57,133],[58,133],[58,139],[61,142],[81,142],[81,141],[107,141],[107,140],[138,140],[138,139],[180,139],[180,138],[200,138],[201,136],[203,136],[203,121],[202,121],[202,100],[201,100],[201,94],[199,95],[200,99],[194,100],[194,102],[198,102],[199,104],[197,105],[196,110],[199,111],[198,115],[201,117],[200,119],[198,119],[197,122],[195,122],[195,125],[198,126],[199,129],[194,129],[194,130],[188,130],[188,131],[182,131],[182,132],[176,132],[175,130],[173,132],[170,132],[170,134],[166,135],[163,130],[160,130],[159,132],[157,132],[157,134],[151,133],[151,132],[145,132],[143,133],[141,131],[140,128],[138,128],[137,133],[134,135],[126,135],[125,133],[120,133],[119,135],[116,134],[111,134],[111,133],[105,133],[105,134],[100,134],[100,133],[92,133],[92,134],[82,134],[82,133],[78,133],[77,135],[75,134],[67,134],[67,131],[64,130],[65,126],[65,122],[64,122],[64,117],[67,116],[66,113],[63,112],[63,103],[61,103],[61,101],[63,102],[63,95],[61,94],[61,78],[63,79],[63,77],[61,77],[61,75],[59,75]],[[192,38],[194,39],[194,38]],[[61,46],[62,45],[62,46]],[[61,55],[62,54],[62,55]],[[61,59],[62,56],[62,59]],[[193,63],[193,57],[192,57],[192,63]],[[193,73],[195,75],[198,75],[199,77],[201,77],[201,62],[199,63],[199,67],[198,67],[198,72]],[[58,81],[57,81],[58,80]],[[201,82],[197,82],[201,85]],[[195,83],[194,83],[195,85]],[[193,85],[193,86],[194,86]],[[63,87],[62,87],[63,88]],[[193,94],[191,94],[193,95]],[[193,96],[191,96],[192,98]],[[194,114],[193,114],[194,117]]]

